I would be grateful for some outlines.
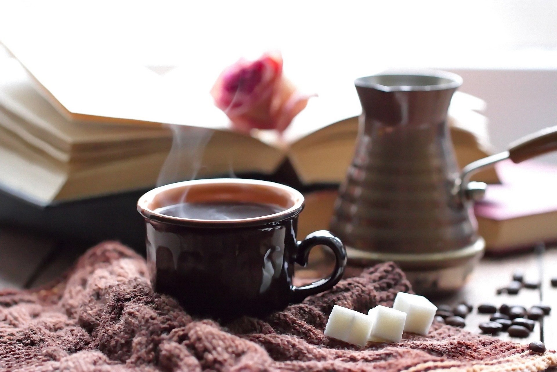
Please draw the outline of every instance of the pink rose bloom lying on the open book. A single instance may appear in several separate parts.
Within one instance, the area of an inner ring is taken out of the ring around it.
[[[242,132],[276,129],[282,133],[310,98],[282,76],[282,56],[278,52],[228,66],[214,83],[211,95],[232,121],[232,128]]]

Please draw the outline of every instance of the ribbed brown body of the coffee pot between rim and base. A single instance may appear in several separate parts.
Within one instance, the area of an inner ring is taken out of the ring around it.
[[[370,252],[449,252],[473,244],[473,221],[451,192],[458,167],[446,117],[455,89],[356,89],[360,133],[331,231]]]

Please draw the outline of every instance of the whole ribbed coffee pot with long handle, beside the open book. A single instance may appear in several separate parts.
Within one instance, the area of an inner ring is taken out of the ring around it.
[[[362,106],[354,160],[340,187],[330,230],[349,264],[394,261],[421,294],[462,287],[485,250],[473,200],[485,183],[476,171],[557,149],[557,130],[536,133],[459,171],[447,111],[460,76],[395,72],[355,81]],[[541,137],[540,137],[541,135]]]

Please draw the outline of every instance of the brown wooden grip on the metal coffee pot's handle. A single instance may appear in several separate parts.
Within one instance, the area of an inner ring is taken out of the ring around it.
[[[557,126],[541,129],[510,144],[509,158],[515,162],[557,150]]]

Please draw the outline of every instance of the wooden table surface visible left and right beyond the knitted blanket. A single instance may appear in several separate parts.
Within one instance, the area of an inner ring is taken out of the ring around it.
[[[544,303],[553,308],[551,314],[536,324],[534,332],[527,339],[512,339],[529,343],[540,340],[548,349],[557,349],[557,288],[553,288],[550,278],[557,277],[557,247],[540,244],[534,250],[503,257],[485,257],[471,275],[466,286],[453,296],[436,299],[437,305],[456,305],[462,301],[474,305],[473,312],[466,318],[466,329],[480,332],[478,324],[488,320],[488,315],[477,313],[477,305],[490,303],[500,306],[522,305],[530,307]],[[33,288],[59,276],[87,249],[85,244],[69,244],[40,235],[28,234],[14,228],[0,227],[0,289]],[[310,278],[312,270],[297,272],[299,278]],[[522,270],[528,281],[540,281],[541,288],[522,288],[519,294],[496,295],[496,289],[511,281],[512,273]],[[501,333],[501,339],[511,338]]]

